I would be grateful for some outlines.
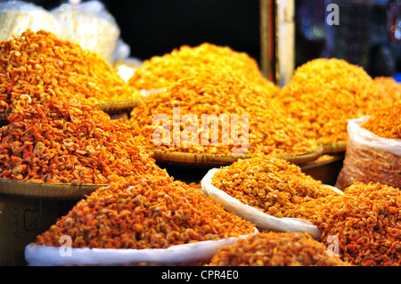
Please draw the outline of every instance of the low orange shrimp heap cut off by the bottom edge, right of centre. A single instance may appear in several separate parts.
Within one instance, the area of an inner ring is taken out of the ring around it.
[[[267,232],[220,247],[207,266],[350,266],[308,234]]]

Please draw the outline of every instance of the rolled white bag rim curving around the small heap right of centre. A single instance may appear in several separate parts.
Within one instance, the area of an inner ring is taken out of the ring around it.
[[[227,211],[233,212],[242,218],[255,223],[259,228],[270,229],[274,231],[292,231],[307,232],[314,239],[320,239],[321,232],[313,223],[298,218],[277,218],[267,215],[255,207],[243,204],[240,200],[234,199],[224,191],[220,191],[212,185],[212,178],[219,168],[211,169],[201,181],[202,191],[209,196],[217,199],[217,202],[223,202],[223,206]],[[336,191],[340,193],[340,191]],[[342,194],[342,192],[340,193]]]

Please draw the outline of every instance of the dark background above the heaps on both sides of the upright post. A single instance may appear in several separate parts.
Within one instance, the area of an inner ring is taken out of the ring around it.
[[[48,10],[66,3],[28,2]],[[102,0],[102,3],[117,20],[122,39],[131,47],[131,56],[137,59],[169,53],[181,45],[209,42],[249,53],[260,64],[259,0]],[[398,11],[401,19],[401,1],[296,0],[295,3],[296,66],[317,57],[337,57],[364,67],[373,77],[390,77],[401,72],[401,41],[391,40],[388,27],[389,7],[398,5],[393,11]],[[340,5],[340,26],[328,27],[324,23],[329,3]]]

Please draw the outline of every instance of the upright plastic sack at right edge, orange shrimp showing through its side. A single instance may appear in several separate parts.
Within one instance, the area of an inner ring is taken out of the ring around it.
[[[385,139],[361,126],[370,117],[348,121],[348,144],[336,187],[381,183],[401,188],[401,140]]]

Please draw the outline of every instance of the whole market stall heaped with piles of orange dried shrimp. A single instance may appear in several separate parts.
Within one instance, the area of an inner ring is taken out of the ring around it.
[[[262,64],[140,60],[101,2],[0,3],[0,265],[399,266],[401,85],[259,12]]]

